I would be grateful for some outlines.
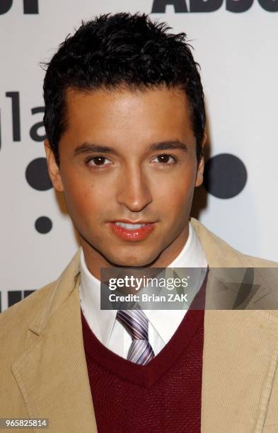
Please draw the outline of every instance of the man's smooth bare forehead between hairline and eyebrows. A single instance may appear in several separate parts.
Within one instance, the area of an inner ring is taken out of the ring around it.
[[[190,108],[178,88],[144,90],[99,89],[66,92],[66,135],[78,141],[94,139],[183,139],[192,136]],[[161,136],[161,137],[158,137]]]

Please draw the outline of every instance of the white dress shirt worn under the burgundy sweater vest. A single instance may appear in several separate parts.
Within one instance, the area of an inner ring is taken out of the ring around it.
[[[207,267],[204,250],[191,224],[189,224],[189,236],[183,250],[168,267]],[[116,320],[117,310],[100,310],[100,280],[88,270],[83,250],[81,250],[80,270],[80,304],[89,327],[105,347],[127,359],[132,337]],[[200,287],[197,291],[199,289]],[[149,342],[155,355],[163,349],[178,329],[187,309],[144,310],[149,319]]]

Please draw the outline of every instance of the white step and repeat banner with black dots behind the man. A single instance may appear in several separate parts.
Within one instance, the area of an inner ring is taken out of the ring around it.
[[[1,0],[0,311],[56,279],[79,246],[46,171],[40,62],[81,20],[120,11],[187,33],[202,68],[209,143],[192,215],[278,260],[278,0]]]

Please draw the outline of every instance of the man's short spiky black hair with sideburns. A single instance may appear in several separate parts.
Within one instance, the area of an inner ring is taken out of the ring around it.
[[[196,152],[202,155],[205,111],[199,65],[185,33],[168,33],[166,23],[145,13],[107,13],[95,17],[59,45],[44,81],[44,125],[59,165],[59,139],[66,130],[68,88],[183,88],[190,103]]]

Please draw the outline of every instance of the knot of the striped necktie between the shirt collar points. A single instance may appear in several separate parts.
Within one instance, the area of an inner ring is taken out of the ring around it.
[[[132,340],[148,340],[149,321],[146,314],[139,310],[118,310],[117,321],[122,323]]]

